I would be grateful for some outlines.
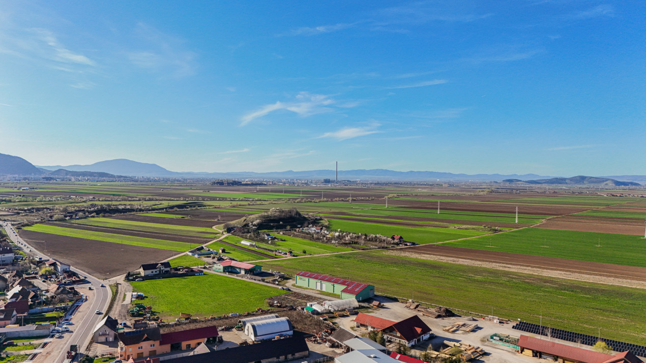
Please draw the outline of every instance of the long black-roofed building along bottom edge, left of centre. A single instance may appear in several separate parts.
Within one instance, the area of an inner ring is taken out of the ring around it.
[[[284,362],[309,357],[309,348],[303,333],[295,332],[290,338],[263,340],[247,346],[218,349],[210,353],[187,355],[164,360],[164,363],[255,363]]]

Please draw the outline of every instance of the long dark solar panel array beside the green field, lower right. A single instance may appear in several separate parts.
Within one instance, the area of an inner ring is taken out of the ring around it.
[[[547,334],[549,332],[550,337],[552,338],[567,340],[568,342],[581,343],[587,346],[594,346],[594,344],[596,344],[599,341],[599,337],[594,337],[594,335],[574,333],[572,331],[556,329],[554,327],[548,327],[548,326],[539,326],[537,324],[532,324],[528,322],[519,322],[518,324],[514,325],[512,329],[526,331],[527,333],[532,333],[537,335],[545,335],[545,337],[547,337]],[[548,330],[548,329],[551,329],[551,330]],[[606,344],[608,344],[610,347],[612,347],[612,350],[614,351],[618,351],[618,352],[630,351],[630,353],[634,355],[638,355],[639,357],[646,357],[645,346],[638,346],[636,344],[618,342],[617,340],[605,339],[605,338],[601,338],[601,340]]]

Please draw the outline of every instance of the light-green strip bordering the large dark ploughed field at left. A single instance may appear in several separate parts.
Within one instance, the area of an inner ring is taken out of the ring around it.
[[[192,247],[195,247],[194,244],[187,244],[184,242],[156,240],[154,238],[144,238],[144,237],[135,237],[135,236],[125,236],[123,234],[84,231],[82,229],[57,227],[54,225],[45,225],[45,224],[36,224],[36,225],[32,225],[31,227],[25,227],[25,229],[28,231],[57,234],[59,236],[85,238],[87,240],[112,242],[114,244],[136,245],[140,247],[166,249],[169,251],[178,251],[178,252],[185,252],[191,249]]]

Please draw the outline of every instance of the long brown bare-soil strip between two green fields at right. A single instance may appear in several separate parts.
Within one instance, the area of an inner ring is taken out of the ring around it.
[[[485,251],[436,244],[417,245],[400,249],[399,251],[646,282],[646,268],[644,267],[602,264],[599,262],[568,260],[566,258],[530,256],[528,254]]]

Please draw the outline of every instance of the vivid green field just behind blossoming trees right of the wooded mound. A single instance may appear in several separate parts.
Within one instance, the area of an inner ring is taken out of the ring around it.
[[[399,225],[385,225],[377,223],[355,222],[346,220],[328,219],[329,229],[336,231],[364,233],[364,234],[381,234],[382,236],[391,236],[400,234],[406,241],[417,242],[418,244],[430,244],[433,242],[442,242],[446,240],[457,240],[479,236],[483,234],[480,231],[469,229],[452,229],[441,227],[404,227]]]

